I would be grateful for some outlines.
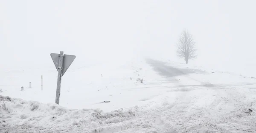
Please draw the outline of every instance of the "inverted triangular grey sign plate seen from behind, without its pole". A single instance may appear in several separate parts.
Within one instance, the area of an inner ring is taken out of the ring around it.
[[[55,64],[55,67],[58,71],[59,69],[59,62],[60,62],[60,54],[51,53],[52,61]],[[68,67],[72,64],[75,60],[76,55],[64,55],[63,56],[63,64],[62,64],[62,76],[67,71]]]

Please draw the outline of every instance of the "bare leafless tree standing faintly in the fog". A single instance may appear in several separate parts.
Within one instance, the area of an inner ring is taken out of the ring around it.
[[[192,39],[192,35],[187,30],[183,30],[177,43],[177,56],[184,58],[186,64],[189,59],[196,58],[195,42]]]

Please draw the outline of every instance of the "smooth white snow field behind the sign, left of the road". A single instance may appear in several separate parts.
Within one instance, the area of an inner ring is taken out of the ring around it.
[[[51,68],[45,70],[20,69],[1,73],[4,77],[0,81],[3,95],[42,103],[55,103],[58,73],[53,63]],[[41,91],[41,75],[43,75],[43,91]],[[151,67],[143,60],[125,62],[116,66],[96,64],[73,68],[71,65],[62,78],[60,105],[71,109],[101,108],[104,111],[131,107],[134,103],[139,103],[141,99],[139,95],[145,97],[155,95],[153,91],[134,93],[131,88],[136,89],[144,84],[157,82],[154,80],[157,77],[160,79],[160,76],[151,71]],[[143,79],[143,83],[137,81],[138,78]],[[29,82],[32,82],[32,89],[29,89]],[[25,91],[20,91],[21,86],[25,87]],[[122,102],[116,99],[122,99]],[[102,104],[103,101],[111,102]]]

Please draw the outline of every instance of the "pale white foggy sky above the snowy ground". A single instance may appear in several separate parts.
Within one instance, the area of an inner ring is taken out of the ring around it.
[[[184,28],[198,64],[255,62],[254,0],[0,0],[1,66],[73,65],[151,56],[177,60]]]

